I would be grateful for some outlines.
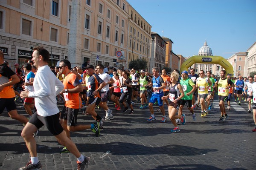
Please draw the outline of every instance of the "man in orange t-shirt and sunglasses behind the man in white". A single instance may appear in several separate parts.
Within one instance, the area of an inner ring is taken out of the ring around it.
[[[61,91],[61,94],[63,94],[65,99],[65,106],[61,112],[60,123],[67,137],[70,138],[70,132],[86,129],[91,129],[95,133],[96,137],[99,137],[99,122],[94,124],[77,124],[77,115],[79,108],[81,107],[81,98],[79,97],[79,92],[83,91],[83,86],[81,85],[77,76],[70,71],[70,61],[61,60],[59,63],[59,68],[61,74],[65,75],[65,79],[63,81],[64,89]],[[70,151],[64,146],[61,153],[64,152],[67,153]]]

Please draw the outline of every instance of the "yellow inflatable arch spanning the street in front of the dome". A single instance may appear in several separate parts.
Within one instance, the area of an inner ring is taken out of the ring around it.
[[[185,61],[180,66],[180,72],[183,70],[188,70],[190,66],[194,63],[203,63],[203,64],[219,64],[221,65],[227,72],[227,75],[233,76],[233,66],[223,57],[221,56],[202,56],[202,55],[194,55],[190,57],[187,61]]]

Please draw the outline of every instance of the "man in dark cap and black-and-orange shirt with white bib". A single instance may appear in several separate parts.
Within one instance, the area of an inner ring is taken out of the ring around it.
[[[89,98],[89,101],[86,112],[89,115],[92,115],[95,121],[99,122],[99,128],[102,129],[105,118],[99,116],[95,112],[95,107],[98,106],[101,101],[100,91],[106,85],[106,83],[99,77],[99,75],[94,73],[95,69],[93,65],[88,65],[85,67],[85,69],[87,74],[90,76],[86,82],[87,86],[84,87],[85,90],[89,90],[87,93],[87,98]]]

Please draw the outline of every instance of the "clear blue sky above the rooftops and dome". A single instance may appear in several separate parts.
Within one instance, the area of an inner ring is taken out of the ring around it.
[[[212,55],[230,58],[256,42],[256,0],[127,1],[151,32],[172,40],[176,55],[198,55],[207,40]]]

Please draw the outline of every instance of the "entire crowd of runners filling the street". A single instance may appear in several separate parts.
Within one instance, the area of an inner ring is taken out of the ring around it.
[[[104,121],[114,119],[112,109],[133,114],[134,104],[140,103],[140,109],[149,109],[149,118],[145,121],[157,121],[154,112],[161,112],[161,123],[168,118],[173,124],[172,133],[179,132],[179,124],[186,123],[184,106],[191,112],[193,121],[198,115],[207,116],[212,108],[215,94],[218,94],[220,107],[219,121],[226,121],[226,109],[230,109],[231,98],[238,104],[241,100],[248,102],[248,113],[253,110],[253,120],[256,124],[256,75],[238,79],[230,78],[225,70],[220,77],[211,71],[195,69],[174,70],[167,74],[166,70],[152,68],[149,72],[135,68],[115,69],[87,65],[71,67],[68,60],[61,60],[59,66],[49,67],[49,52],[41,46],[34,48],[32,60],[25,63],[23,71],[15,64],[15,72],[4,61],[0,51],[0,113],[6,108],[11,118],[20,121],[24,128],[21,136],[26,142],[31,160],[20,170],[41,168],[36,152],[35,137],[42,126],[55,136],[64,147],[61,153],[71,152],[77,158],[78,170],[86,168],[89,157],[81,155],[76,145],[70,139],[70,132],[90,129],[99,137]],[[150,73],[151,72],[151,73]],[[18,90],[22,89],[22,90]],[[20,92],[19,92],[20,91]],[[15,101],[21,98],[23,107],[29,115],[27,118],[17,112]],[[108,102],[113,101],[113,108]],[[61,112],[57,101],[63,103]],[[227,104],[227,108],[225,107]],[[154,109],[158,105],[158,109]],[[168,107],[165,109],[164,105]],[[201,113],[195,113],[196,107],[201,107]],[[95,108],[103,109],[105,115],[96,112]],[[32,111],[33,110],[33,111]],[[91,124],[78,124],[79,112],[91,115]],[[217,118],[216,118],[217,119]],[[253,129],[256,132],[256,128]]]

